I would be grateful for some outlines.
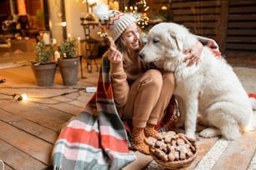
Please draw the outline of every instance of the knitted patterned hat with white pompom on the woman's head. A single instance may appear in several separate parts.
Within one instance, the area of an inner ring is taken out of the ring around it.
[[[125,29],[128,28],[131,23],[136,23],[136,18],[131,14],[109,10],[109,7],[105,4],[97,5],[93,10],[101,25],[105,26],[107,29],[108,36],[112,37],[114,41],[125,32]]]

